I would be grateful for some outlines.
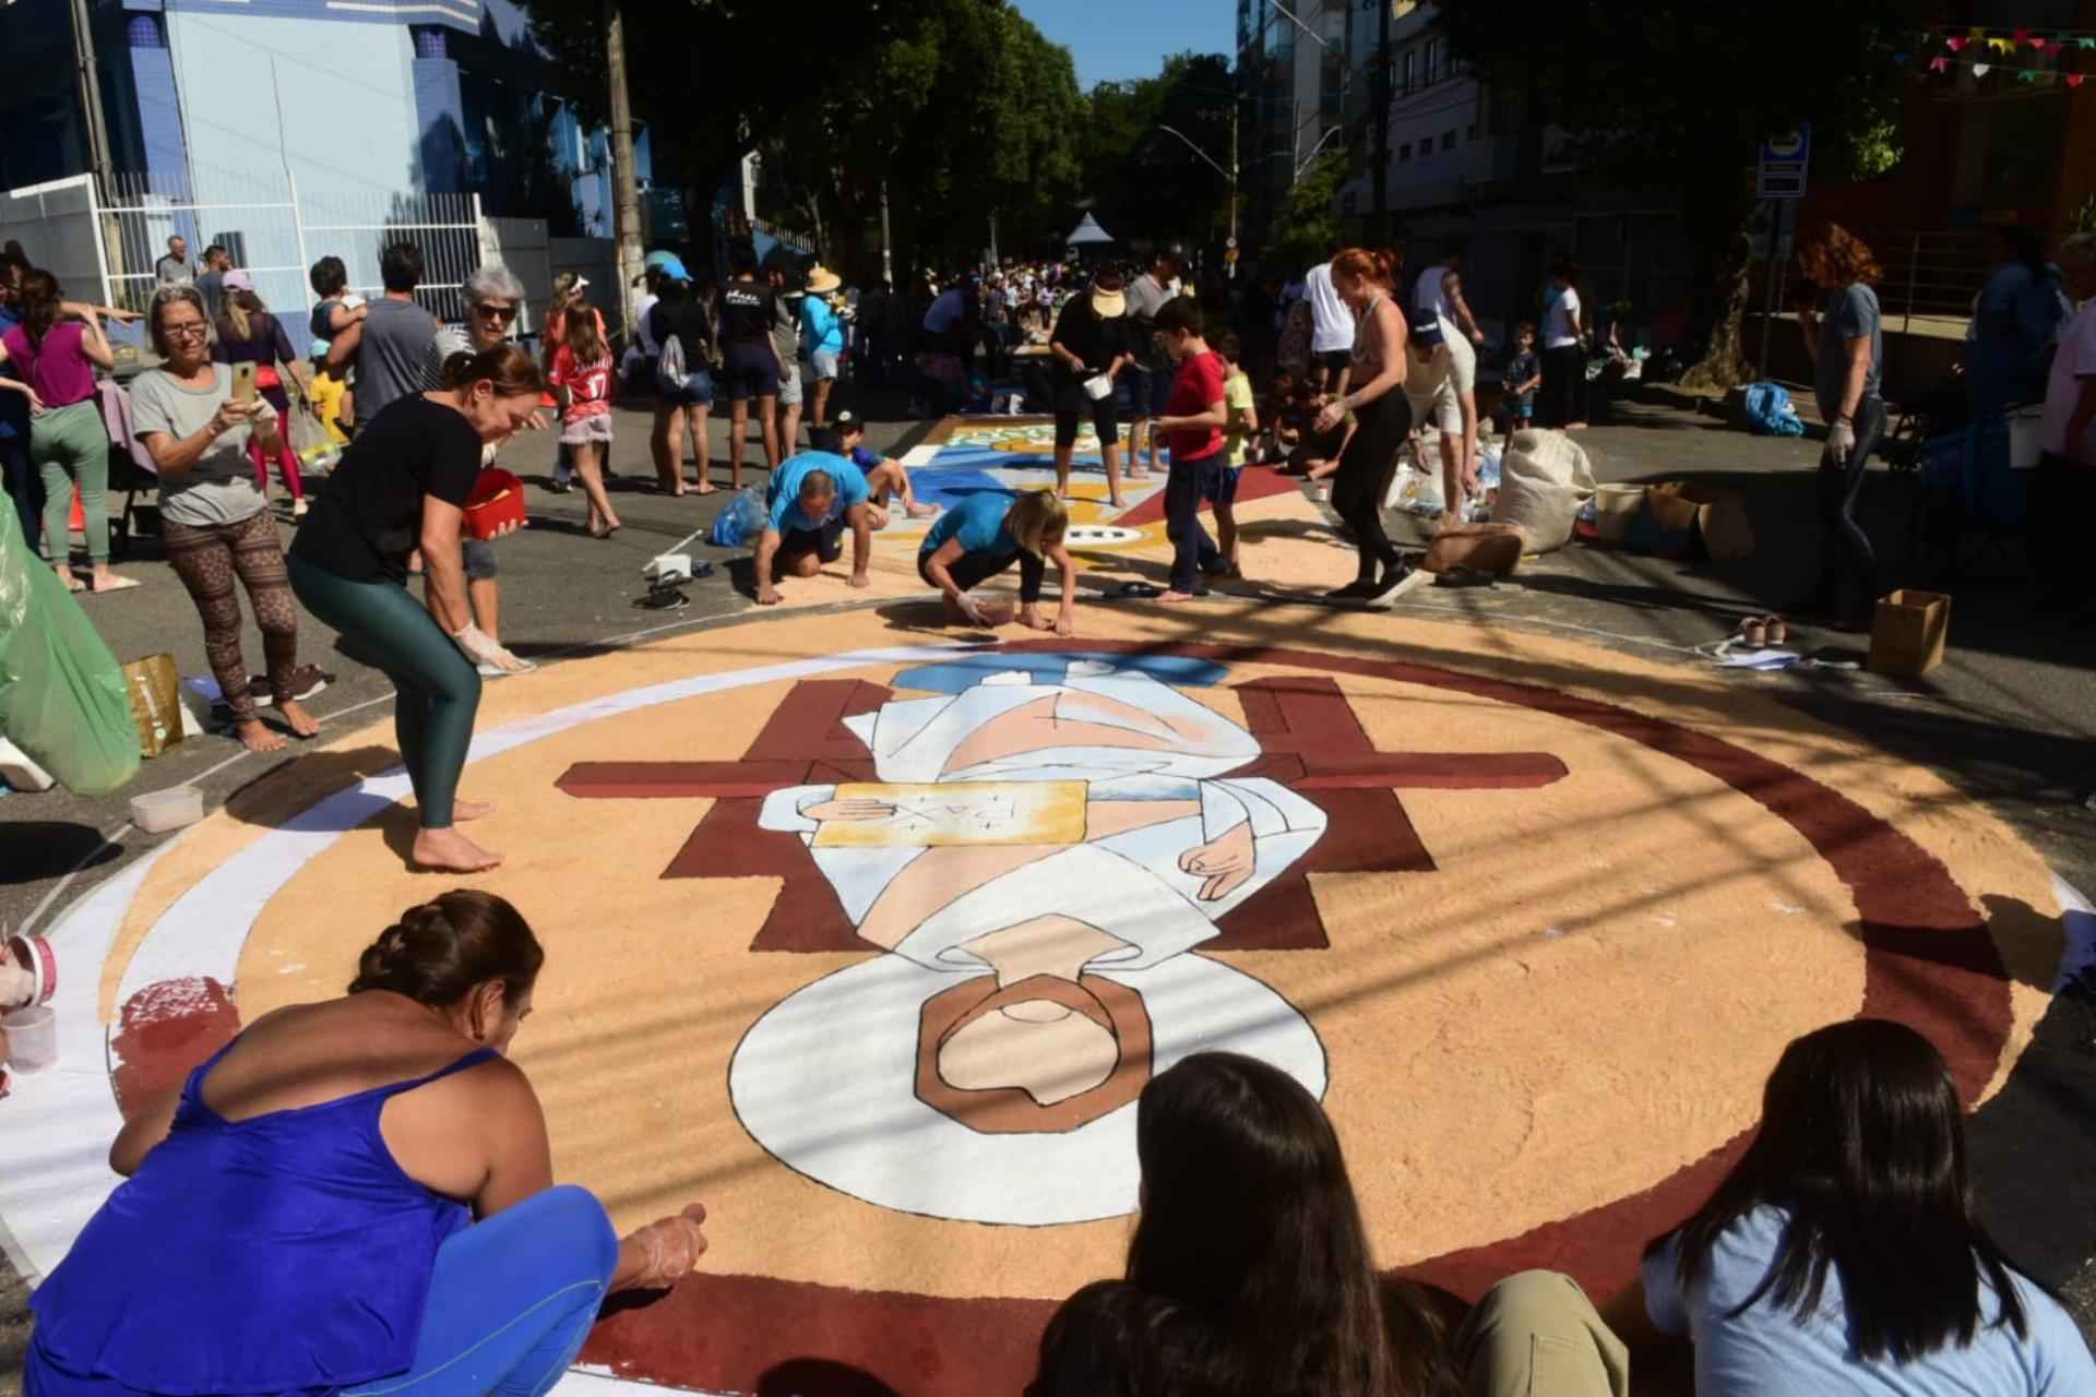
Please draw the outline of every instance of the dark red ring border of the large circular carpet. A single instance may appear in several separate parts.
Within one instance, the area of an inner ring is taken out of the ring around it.
[[[1855,800],[1746,748],[1614,704],[1398,660],[1136,641],[1019,641],[1002,649],[1186,656],[1427,685],[1585,723],[1687,762],[1788,821],[1849,886],[1863,940],[1863,1016],[1897,1018],[1926,1033],[1968,1100],[1993,1077],[2012,1022],[2008,980],[1985,919],[1949,869]],[[134,1062],[126,1049],[126,1070],[136,1085],[187,1072],[231,1037],[226,1003],[218,995],[208,999],[210,1022],[187,1033],[163,1026],[153,1035],[126,1035],[138,1051]],[[149,1016],[126,1005],[128,1026],[140,1018]],[[122,1095],[136,1102],[130,1085],[119,1083]],[[1501,1276],[1547,1265],[1570,1271],[1595,1296],[1608,1294],[1635,1276],[1645,1240],[1694,1208],[1744,1144],[1742,1135],[1641,1194],[1490,1246],[1434,1257],[1406,1273],[1473,1296]],[[1375,1160],[1354,1160],[1356,1173],[1375,1167]],[[620,1376],[729,1393],[792,1389],[807,1397],[843,1397],[880,1393],[887,1384],[912,1397],[975,1397],[1025,1384],[1033,1345],[1052,1311],[1052,1301],[956,1301],[700,1273],[652,1305],[608,1313],[583,1361],[610,1366]],[[836,1368],[828,1378],[811,1378],[805,1370],[811,1361]],[[796,1363],[803,1370],[790,1382],[778,1376]],[[868,1384],[874,1378],[878,1382]]]

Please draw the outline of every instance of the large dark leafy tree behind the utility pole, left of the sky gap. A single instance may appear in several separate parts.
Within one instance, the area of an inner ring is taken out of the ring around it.
[[[530,0],[541,42],[602,84],[599,0]],[[866,268],[887,184],[895,243],[958,260],[1031,243],[1075,197],[1084,96],[1069,50],[1006,0],[625,0],[633,105],[717,189],[763,155],[765,214]],[[694,61],[704,54],[704,67]],[[585,84],[587,86],[587,84]]]

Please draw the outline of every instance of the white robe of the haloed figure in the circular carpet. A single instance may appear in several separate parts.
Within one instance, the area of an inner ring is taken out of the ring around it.
[[[1172,746],[1042,748],[947,771],[954,752],[985,723],[1048,695],[1061,700],[1063,714],[1155,733]],[[1088,706],[1088,700],[1117,704]],[[1325,811],[1285,785],[1222,777],[1260,756],[1251,733],[1142,672],[1073,662],[1061,685],[1033,683],[1027,672],[994,674],[958,695],[893,700],[847,725],[866,739],[885,783],[1086,781],[1090,800],[1199,804],[1199,815],[1071,844],[960,894],[895,947],[926,970],[983,974],[985,961],[966,951],[966,943],[1048,913],[1126,943],[1094,957],[1094,968],[1144,970],[1214,938],[1218,917],[1260,892],[1325,834]],[[836,785],[773,792],[761,825],[801,834],[811,844],[815,865],[857,926],[889,882],[924,850],[813,846],[817,821],[805,811],[834,796]],[[1207,878],[1182,871],[1180,857],[1239,825],[1251,829],[1251,875],[1228,896],[1201,899]]]

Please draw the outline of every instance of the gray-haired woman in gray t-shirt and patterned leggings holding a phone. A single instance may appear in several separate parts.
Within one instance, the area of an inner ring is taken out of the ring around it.
[[[233,396],[233,369],[212,362],[203,295],[189,283],[153,293],[147,329],[166,364],[132,379],[132,431],[159,473],[168,563],[203,618],[203,653],[233,710],[233,731],[249,752],[277,752],[283,737],[256,716],[247,685],[241,603],[233,582],[247,589],[256,626],[262,628],[279,716],[298,737],[312,737],[321,725],[298,700],[319,687],[319,677],[298,668],[298,605],[277,522],[249,461],[249,440],[264,461],[277,454],[283,417],[266,398],[243,402]]]

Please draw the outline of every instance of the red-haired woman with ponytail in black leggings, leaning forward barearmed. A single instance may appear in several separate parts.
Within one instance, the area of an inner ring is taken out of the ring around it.
[[[1354,310],[1354,387],[1325,404],[1318,413],[1318,434],[1335,429],[1354,415],[1354,436],[1339,452],[1339,469],[1331,484],[1331,507],[1354,534],[1360,553],[1358,576],[1327,601],[1364,607],[1390,607],[1425,580],[1398,555],[1383,532],[1383,501],[1390,478],[1398,469],[1398,450],[1413,431],[1413,406],[1404,396],[1406,329],[1404,312],[1394,295],[1398,266],[1388,251],[1348,247],[1331,260],[1331,285]]]

